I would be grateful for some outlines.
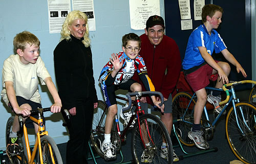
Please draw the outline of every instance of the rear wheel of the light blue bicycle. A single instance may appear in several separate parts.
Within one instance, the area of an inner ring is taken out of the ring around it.
[[[186,146],[195,145],[193,140],[187,136],[194,122],[193,109],[195,104],[196,101],[186,92],[179,92],[173,98],[173,120],[176,133],[180,142]]]

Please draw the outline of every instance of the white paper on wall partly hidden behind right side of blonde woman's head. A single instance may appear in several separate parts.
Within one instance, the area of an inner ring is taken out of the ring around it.
[[[95,12],[94,12],[94,2],[93,0],[73,0],[72,7],[74,10],[79,10],[81,12],[86,13],[88,17],[88,25],[89,31],[96,31],[96,24],[95,24]]]

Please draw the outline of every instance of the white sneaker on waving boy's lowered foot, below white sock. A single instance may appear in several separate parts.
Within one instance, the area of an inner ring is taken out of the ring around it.
[[[112,160],[116,158],[116,149],[111,142],[103,144],[100,150],[104,153],[105,160]]]

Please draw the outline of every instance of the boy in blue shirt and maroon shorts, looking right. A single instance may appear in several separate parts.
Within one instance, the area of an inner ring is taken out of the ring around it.
[[[223,84],[228,83],[230,66],[226,62],[214,60],[211,55],[215,50],[216,53],[222,53],[227,61],[237,67],[237,72],[247,77],[243,67],[227,50],[217,29],[221,23],[223,9],[217,5],[205,5],[202,8],[203,25],[196,28],[189,36],[185,58],[183,60],[183,69],[187,82],[196,92],[197,102],[194,112],[194,124],[188,137],[194,140],[196,146],[200,149],[208,149],[209,144],[202,137],[201,116],[206,101],[215,105],[215,111],[220,112],[219,106],[221,101],[220,91],[212,91],[208,96],[205,87],[209,84],[209,79],[217,80],[216,88],[221,88]],[[217,74],[218,73],[218,74]],[[212,76],[212,75],[219,76]]]

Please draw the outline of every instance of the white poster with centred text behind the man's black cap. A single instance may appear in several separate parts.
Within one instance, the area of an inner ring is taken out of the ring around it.
[[[159,0],[130,0],[131,29],[144,30],[146,20],[152,15],[160,16]]]

